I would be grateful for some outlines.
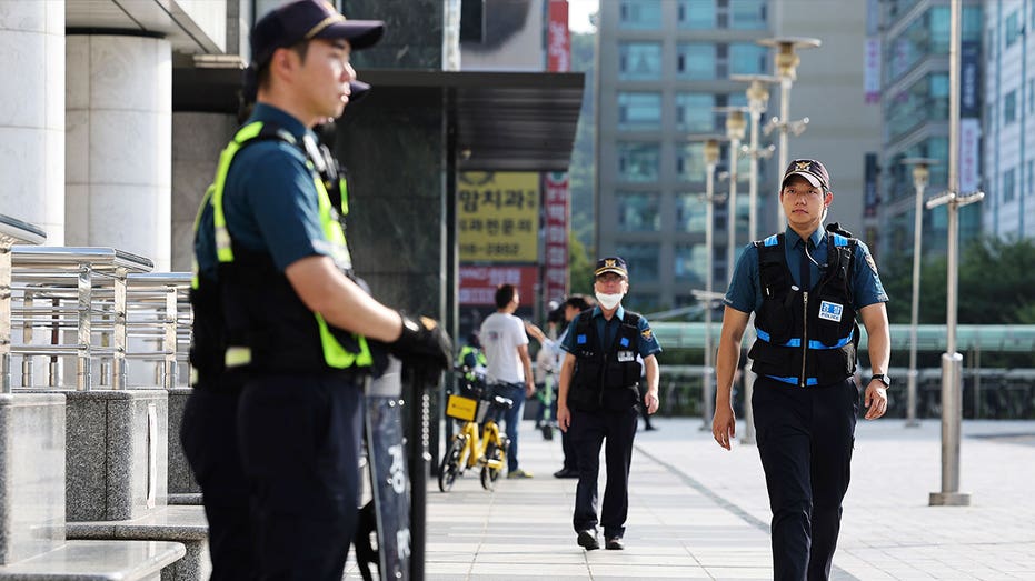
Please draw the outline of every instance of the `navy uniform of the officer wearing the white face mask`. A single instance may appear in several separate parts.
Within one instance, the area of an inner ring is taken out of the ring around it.
[[[569,437],[578,459],[575,531],[597,527],[597,478],[600,447],[607,444],[607,488],[599,523],[605,539],[620,539],[629,511],[629,465],[639,411],[640,365],[637,355],[661,352],[647,320],[621,305],[610,320],[599,307],[571,320],[561,349],[575,355],[568,389]]]

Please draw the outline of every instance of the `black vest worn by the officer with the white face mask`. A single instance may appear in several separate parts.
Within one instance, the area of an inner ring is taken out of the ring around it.
[[[614,341],[601,351],[593,310],[573,321],[575,373],[568,389],[568,405],[579,411],[626,411],[639,401],[639,315],[625,311]]]

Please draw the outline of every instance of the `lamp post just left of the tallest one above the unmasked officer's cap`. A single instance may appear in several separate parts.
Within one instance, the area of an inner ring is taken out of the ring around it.
[[[735,81],[746,81],[750,84],[747,87],[747,109],[750,116],[750,141],[743,148],[743,152],[748,156],[748,181],[747,181],[747,239],[758,239],[758,160],[768,159],[773,156],[773,146],[766,148],[758,147],[758,126],[762,124],[762,114],[766,111],[769,102],[769,84],[778,81],[776,77],[765,74],[733,74],[730,79]],[[754,313],[748,323],[747,342],[754,342],[755,324]],[[752,371],[750,360],[744,363],[744,431],[742,432],[740,443],[755,443],[755,413],[752,408],[752,393],[755,390],[755,373]]]

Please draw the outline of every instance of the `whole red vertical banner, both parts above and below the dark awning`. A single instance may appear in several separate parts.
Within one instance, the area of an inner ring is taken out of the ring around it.
[[[571,32],[567,0],[550,0],[547,29],[547,70],[571,70]],[[570,207],[567,173],[543,176],[544,273],[543,300],[561,300],[568,294],[568,224]]]

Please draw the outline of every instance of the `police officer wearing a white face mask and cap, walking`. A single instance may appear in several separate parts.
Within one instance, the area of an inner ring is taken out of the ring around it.
[[[561,343],[557,422],[569,432],[578,459],[578,487],[573,524],[577,542],[587,551],[600,548],[597,524],[604,527],[605,548],[621,550],[629,512],[629,465],[639,421],[640,355],[646,368],[647,413],[658,410],[658,360],[661,352],[647,320],[621,308],[629,292],[629,271],[618,257],[597,262],[594,272],[597,307],[583,311]],[[597,477],[600,445],[607,439],[607,488],[597,519]]]

